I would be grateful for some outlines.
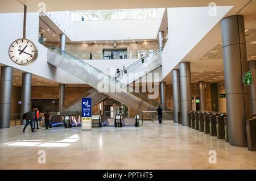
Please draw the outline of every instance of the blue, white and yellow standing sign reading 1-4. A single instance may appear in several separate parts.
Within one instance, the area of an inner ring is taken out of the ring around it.
[[[92,129],[92,98],[82,98],[82,130]]]

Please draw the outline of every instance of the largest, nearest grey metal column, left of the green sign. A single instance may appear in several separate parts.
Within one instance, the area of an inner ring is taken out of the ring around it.
[[[250,87],[242,76],[247,69],[245,26],[243,16],[233,15],[221,21],[226,108],[229,143],[247,146],[246,119],[250,118]]]

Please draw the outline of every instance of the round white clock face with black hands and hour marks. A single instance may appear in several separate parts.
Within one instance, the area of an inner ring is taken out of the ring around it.
[[[36,60],[38,52],[32,41],[18,39],[10,45],[9,56],[15,64],[28,65]]]

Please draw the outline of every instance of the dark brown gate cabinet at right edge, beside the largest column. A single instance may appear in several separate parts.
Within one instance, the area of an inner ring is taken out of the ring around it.
[[[256,117],[246,120],[248,150],[256,151]]]

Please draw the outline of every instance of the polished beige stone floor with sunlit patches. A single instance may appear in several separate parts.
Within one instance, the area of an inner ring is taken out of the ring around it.
[[[46,163],[38,162],[39,150]],[[217,163],[209,163],[210,150]],[[256,152],[171,121],[35,133],[18,126],[0,129],[0,169],[256,169]]]

